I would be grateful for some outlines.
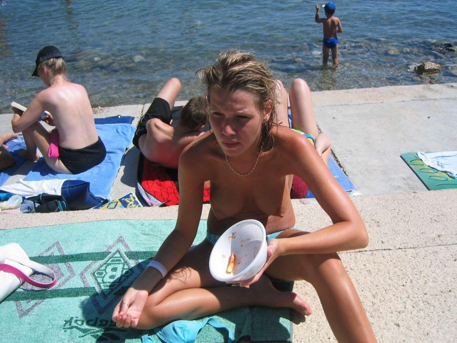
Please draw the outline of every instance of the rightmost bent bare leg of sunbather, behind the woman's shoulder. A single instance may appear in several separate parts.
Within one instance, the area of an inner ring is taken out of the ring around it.
[[[291,102],[292,127],[314,137],[314,147],[325,164],[330,156],[330,140],[320,134],[314,117],[311,90],[302,79],[295,79],[289,91]]]

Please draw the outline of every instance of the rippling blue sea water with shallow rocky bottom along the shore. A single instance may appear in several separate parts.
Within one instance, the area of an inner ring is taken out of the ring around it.
[[[62,51],[94,107],[151,102],[171,77],[183,84],[178,99],[201,94],[196,72],[227,49],[253,52],[286,87],[303,78],[313,91],[457,82],[456,0],[335,3],[338,68],[322,66],[315,1],[3,0],[0,113],[43,89],[30,76],[46,45]],[[425,61],[442,72],[416,75]]]

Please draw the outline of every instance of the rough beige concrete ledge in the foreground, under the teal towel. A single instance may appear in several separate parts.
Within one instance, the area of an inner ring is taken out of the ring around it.
[[[457,189],[353,197],[367,225],[366,249],[342,252],[379,342],[456,342]],[[315,199],[293,200],[297,225],[309,231],[330,224]],[[204,205],[202,219],[210,206]],[[17,229],[116,219],[176,219],[177,206],[0,216]],[[122,228],[117,228],[122,234]],[[335,342],[315,290],[294,291],[313,315],[294,326],[293,342]],[[243,341],[249,342],[249,341]]]

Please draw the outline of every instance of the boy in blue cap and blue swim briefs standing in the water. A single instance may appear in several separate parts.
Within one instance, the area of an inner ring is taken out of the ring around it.
[[[337,17],[333,16],[335,13],[336,6],[333,2],[327,2],[323,5],[325,10],[326,18],[319,18],[319,4],[316,4],[316,15],[314,20],[316,23],[322,23],[324,39],[322,41],[322,55],[323,64],[326,65],[328,61],[328,50],[332,50],[333,64],[338,64],[338,39],[337,33],[343,32],[343,26],[341,21]]]

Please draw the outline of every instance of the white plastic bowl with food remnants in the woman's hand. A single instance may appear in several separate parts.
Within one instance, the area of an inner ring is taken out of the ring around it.
[[[235,254],[233,271],[227,273],[231,254]],[[218,239],[210,256],[210,272],[216,280],[242,281],[257,274],[267,259],[265,228],[254,219],[229,227]]]

